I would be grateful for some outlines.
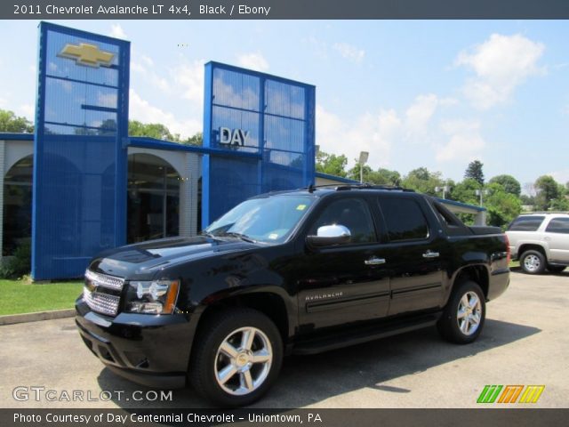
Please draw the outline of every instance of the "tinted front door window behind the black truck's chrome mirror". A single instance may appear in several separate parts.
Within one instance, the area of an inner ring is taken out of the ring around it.
[[[325,225],[343,225],[350,234],[350,243],[367,243],[375,241],[372,214],[364,200],[344,198],[335,200],[325,207],[310,229],[309,234],[317,235],[318,228]]]

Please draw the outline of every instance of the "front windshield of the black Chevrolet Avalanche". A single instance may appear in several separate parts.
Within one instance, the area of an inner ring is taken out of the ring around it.
[[[314,197],[287,195],[245,200],[212,222],[204,233],[281,243],[301,221],[313,201]]]

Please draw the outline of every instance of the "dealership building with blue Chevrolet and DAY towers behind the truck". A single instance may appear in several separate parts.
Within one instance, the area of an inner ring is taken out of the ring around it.
[[[80,277],[114,246],[193,236],[262,192],[354,182],[315,172],[313,85],[209,62],[202,147],[130,137],[130,43],[39,33],[35,133],[0,133],[1,254],[31,241],[36,280]]]

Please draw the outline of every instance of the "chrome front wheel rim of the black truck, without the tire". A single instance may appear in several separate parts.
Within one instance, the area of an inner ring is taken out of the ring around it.
[[[267,379],[273,350],[267,334],[256,327],[240,327],[225,337],[215,355],[215,379],[235,396],[257,390]]]

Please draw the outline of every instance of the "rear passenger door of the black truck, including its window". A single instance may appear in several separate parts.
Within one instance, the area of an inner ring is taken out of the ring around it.
[[[389,316],[442,305],[445,239],[432,219],[429,225],[424,200],[389,194],[382,195],[379,204],[389,238],[386,261],[392,271]]]

